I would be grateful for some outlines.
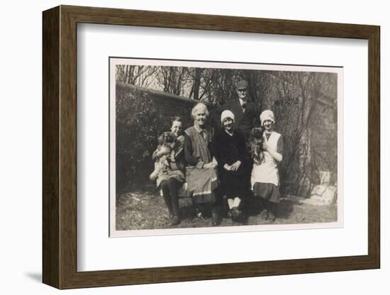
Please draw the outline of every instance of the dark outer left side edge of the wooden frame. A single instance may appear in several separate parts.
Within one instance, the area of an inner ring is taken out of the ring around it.
[[[43,13],[43,275],[59,287],[60,9]]]

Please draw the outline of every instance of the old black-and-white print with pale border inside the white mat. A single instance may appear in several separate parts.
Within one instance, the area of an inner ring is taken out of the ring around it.
[[[111,236],[342,226],[342,67],[109,65]]]

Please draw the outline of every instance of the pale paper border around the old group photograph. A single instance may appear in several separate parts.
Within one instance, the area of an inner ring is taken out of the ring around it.
[[[119,60],[119,61],[118,61]],[[223,69],[250,69],[255,70],[259,72],[267,72],[267,71],[277,71],[277,72],[316,72],[316,73],[333,73],[336,74],[338,77],[337,83],[337,91],[338,91],[338,116],[341,116],[341,113],[343,111],[342,109],[342,101],[344,99],[344,89],[342,86],[342,80],[343,80],[343,69],[342,66],[336,66],[336,65],[299,65],[299,64],[277,64],[277,63],[264,63],[264,62],[237,62],[237,61],[221,61],[221,60],[175,60],[175,59],[167,59],[167,58],[148,58],[148,57],[108,57],[108,78],[109,78],[109,101],[110,101],[110,107],[109,107],[109,124],[115,125],[116,123],[116,111],[115,106],[113,106],[116,103],[116,72],[114,71],[114,67],[117,65],[122,65],[121,62],[124,62],[123,65],[146,65],[150,66],[150,64],[153,65],[166,65],[171,64],[173,67],[201,67],[201,68],[209,68],[213,69],[213,67],[210,67],[210,65],[215,65],[218,68],[221,68],[223,65]],[[184,63],[184,65],[183,65]],[[196,64],[196,65],[194,65]],[[238,65],[242,67],[238,67]],[[170,65],[167,65],[170,66]],[[249,67],[250,68],[249,68]],[[255,67],[257,67],[255,69]],[[339,83],[341,85],[339,85]],[[145,88],[147,89],[147,87]],[[157,89],[152,89],[157,90]],[[159,90],[157,90],[159,91]],[[342,137],[343,133],[343,126],[342,126],[342,119],[338,118],[338,128],[336,131],[336,134],[338,138]],[[116,167],[116,150],[112,148],[113,142],[116,141],[116,135],[115,132],[111,132],[111,128],[109,128],[110,132],[108,132],[108,138],[109,138],[109,145],[110,150],[109,152],[109,211],[110,211],[110,217],[109,217],[109,236],[110,238],[118,238],[118,237],[139,237],[139,236],[148,236],[148,235],[186,235],[186,234],[199,234],[199,233],[237,233],[237,232],[248,232],[248,231],[264,231],[264,230],[296,230],[296,229],[318,229],[318,228],[342,228],[344,223],[344,216],[343,216],[343,203],[344,203],[344,194],[343,194],[343,187],[342,185],[338,185],[337,187],[337,204],[338,204],[338,213],[337,218],[335,221],[330,222],[318,222],[318,223],[287,223],[282,225],[262,225],[262,224],[255,224],[255,225],[245,225],[245,224],[235,224],[232,226],[221,226],[221,227],[184,227],[184,228],[143,228],[143,229],[128,229],[128,230],[116,230],[116,194],[114,191],[116,191],[115,188],[115,177],[112,177],[112,175],[115,171]],[[339,147],[340,155],[342,155],[342,147]],[[336,157],[337,159],[337,157]],[[338,160],[338,168],[342,167],[343,160]],[[340,184],[342,182],[342,169],[341,171],[337,171],[338,177],[336,177],[336,182]]]

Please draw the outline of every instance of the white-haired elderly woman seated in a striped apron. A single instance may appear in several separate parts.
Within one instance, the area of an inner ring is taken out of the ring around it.
[[[184,155],[186,159],[187,193],[192,197],[198,217],[211,208],[213,225],[221,220],[218,215],[220,196],[217,193],[218,176],[216,158],[213,157],[213,130],[206,125],[209,113],[205,104],[192,108],[194,126],[184,131]]]

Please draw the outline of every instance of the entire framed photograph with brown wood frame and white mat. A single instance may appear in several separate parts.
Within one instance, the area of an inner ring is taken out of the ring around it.
[[[43,282],[380,267],[379,27],[43,12]]]

